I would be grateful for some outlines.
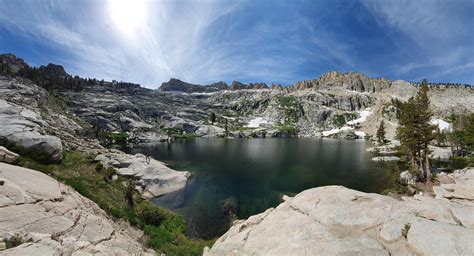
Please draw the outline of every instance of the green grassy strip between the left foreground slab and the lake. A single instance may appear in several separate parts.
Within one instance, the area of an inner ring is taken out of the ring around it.
[[[66,152],[57,164],[43,164],[28,157],[20,157],[20,165],[38,170],[63,181],[83,196],[91,199],[109,215],[128,220],[144,230],[147,245],[166,255],[201,255],[204,246],[213,240],[186,237],[186,224],[181,215],[142,200],[135,194],[134,204],[127,200],[127,183],[131,178],[119,176],[111,180],[115,170],[103,168],[91,155]]]

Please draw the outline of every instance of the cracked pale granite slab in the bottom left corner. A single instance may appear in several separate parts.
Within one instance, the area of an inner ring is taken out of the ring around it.
[[[0,163],[0,239],[23,243],[2,255],[152,255],[139,231],[49,176]],[[104,195],[105,196],[105,195]]]

